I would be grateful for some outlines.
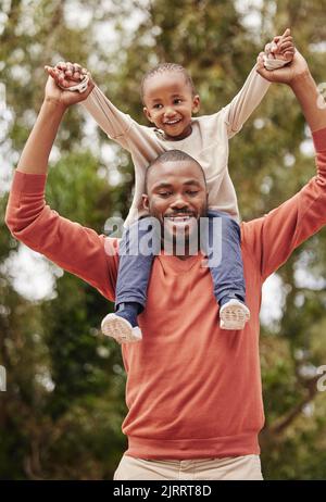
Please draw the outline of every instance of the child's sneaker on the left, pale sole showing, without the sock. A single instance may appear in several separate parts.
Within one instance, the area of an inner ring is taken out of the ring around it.
[[[133,328],[127,319],[116,314],[108,314],[101,323],[101,330],[106,337],[114,338],[118,343],[135,343],[142,339],[141,329]]]

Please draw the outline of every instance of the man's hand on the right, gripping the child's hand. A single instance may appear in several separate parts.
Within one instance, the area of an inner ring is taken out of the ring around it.
[[[256,72],[266,80],[291,86],[300,76],[310,74],[305,59],[297,49],[292,62],[278,70],[271,71],[264,67],[264,54],[261,52],[258,57]]]

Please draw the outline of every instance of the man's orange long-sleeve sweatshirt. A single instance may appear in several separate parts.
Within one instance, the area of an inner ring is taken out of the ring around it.
[[[262,284],[294,248],[326,224],[326,128],[313,135],[317,175],[267,215],[241,224],[251,319],[221,330],[209,268],[201,256],[153,263],[143,340],[123,346],[127,454],[203,459],[258,454],[264,424],[259,359]],[[45,202],[46,176],[16,172],[7,212],[12,234],[114,300],[116,239],[61,217]]]

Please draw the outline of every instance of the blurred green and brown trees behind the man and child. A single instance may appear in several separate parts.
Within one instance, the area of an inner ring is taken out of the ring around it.
[[[90,286],[18,244],[3,223],[18,155],[40,108],[45,64],[88,67],[108,97],[147,124],[139,85],[161,61],[185,65],[213,113],[239,90],[264,45],[291,27],[316,81],[326,81],[326,1],[0,1],[1,479],[112,479],[125,450],[120,348],[99,332],[108,303]],[[133,166],[82,106],[51,154],[48,201],[102,233],[126,216]],[[292,196],[314,175],[310,133],[290,89],[271,87],[230,142],[243,219]],[[265,479],[326,479],[326,233],[268,279],[261,363]],[[112,305],[109,305],[112,309]],[[246,399],[246,397],[243,397]]]

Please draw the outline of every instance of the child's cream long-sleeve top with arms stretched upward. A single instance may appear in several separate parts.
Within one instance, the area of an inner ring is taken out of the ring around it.
[[[183,150],[202,166],[208,184],[209,208],[224,211],[239,221],[237,196],[228,173],[228,139],[237,134],[260,104],[269,83],[255,71],[250,72],[243,87],[233,101],[220,112],[192,118],[192,133],[185,139],[168,141],[153,128],[139,125],[129,115],[117,110],[103,92],[95,87],[82,104],[108,135],[128,150],[135,165],[135,194],[125,222],[130,225],[146,214],[141,196],[145,173],[149,163],[166,150]]]

